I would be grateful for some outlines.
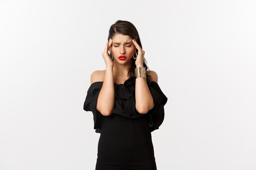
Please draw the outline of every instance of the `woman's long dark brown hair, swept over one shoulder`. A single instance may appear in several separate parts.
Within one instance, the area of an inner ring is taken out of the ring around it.
[[[139,38],[139,33],[138,33],[137,29],[135,28],[135,26],[131,22],[117,20],[117,22],[115,22],[115,24],[112,24],[108,31],[108,41],[110,40],[110,38],[113,38],[113,36],[115,36],[117,34],[129,35],[130,38],[135,39],[137,41],[137,43],[139,44],[139,46],[142,49],[141,41]],[[135,50],[138,53],[138,50],[137,49],[135,49]],[[136,54],[134,53],[133,56],[136,56]],[[111,53],[110,53],[110,57],[112,57]],[[132,60],[132,66],[130,67],[130,69],[128,71],[128,77],[135,76],[135,68],[136,68],[135,59],[132,57],[131,60]],[[149,70],[145,57],[144,57],[143,66],[145,67],[146,71]],[[147,82],[148,82],[148,84],[150,84],[151,76],[148,74],[146,74],[146,76],[147,76]]]

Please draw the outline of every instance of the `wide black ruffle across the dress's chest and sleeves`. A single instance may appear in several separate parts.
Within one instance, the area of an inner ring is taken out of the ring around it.
[[[136,118],[143,116],[144,114],[138,113],[135,108],[135,80],[136,77],[129,77],[124,84],[114,83],[115,88],[115,105],[112,113],[128,117]],[[95,132],[101,132],[101,113],[97,111],[96,104],[99,96],[99,92],[103,82],[94,82],[88,89],[87,96],[83,105],[85,111],[92,111],[94,120]],[[148,111],[149,114],[149,128],[150,131],[154,131],[164,121],[164,105],[167,102],[167,97],[161,91],[160,87],[156,82],[151,82],[148,85],[150,93],[154,99],[154,108]]]

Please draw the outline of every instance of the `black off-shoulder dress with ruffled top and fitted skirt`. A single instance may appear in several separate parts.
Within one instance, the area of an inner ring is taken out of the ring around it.
[[[92,111],[95,132],[101,133],[98,143],[96,170],[156,170],[151,132],[164,120],[167,98],[156,82],[148,85],[154,108],[146,114],[135,109],[135,79],[115,86],[115,106],[110,116],[96,110],[103,82],[94,82],[88,89],[83,105]]]

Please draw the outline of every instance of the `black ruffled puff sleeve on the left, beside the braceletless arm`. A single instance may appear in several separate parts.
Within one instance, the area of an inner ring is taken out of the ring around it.
[[[96,129],[95,132],[97,133],[101,132],[101,113],[96,109],[96,104],[102,84],[103,82],[94,82],[91,84],[83,104],[83,110],[92,111],[94,129]]]

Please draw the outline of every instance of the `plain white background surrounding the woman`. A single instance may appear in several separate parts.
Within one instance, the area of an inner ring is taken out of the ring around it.
[[[93,170],[83,110],[117,20],[168,97],[158,170],[256,169],[256,1],[0,0],[0,170]]]

